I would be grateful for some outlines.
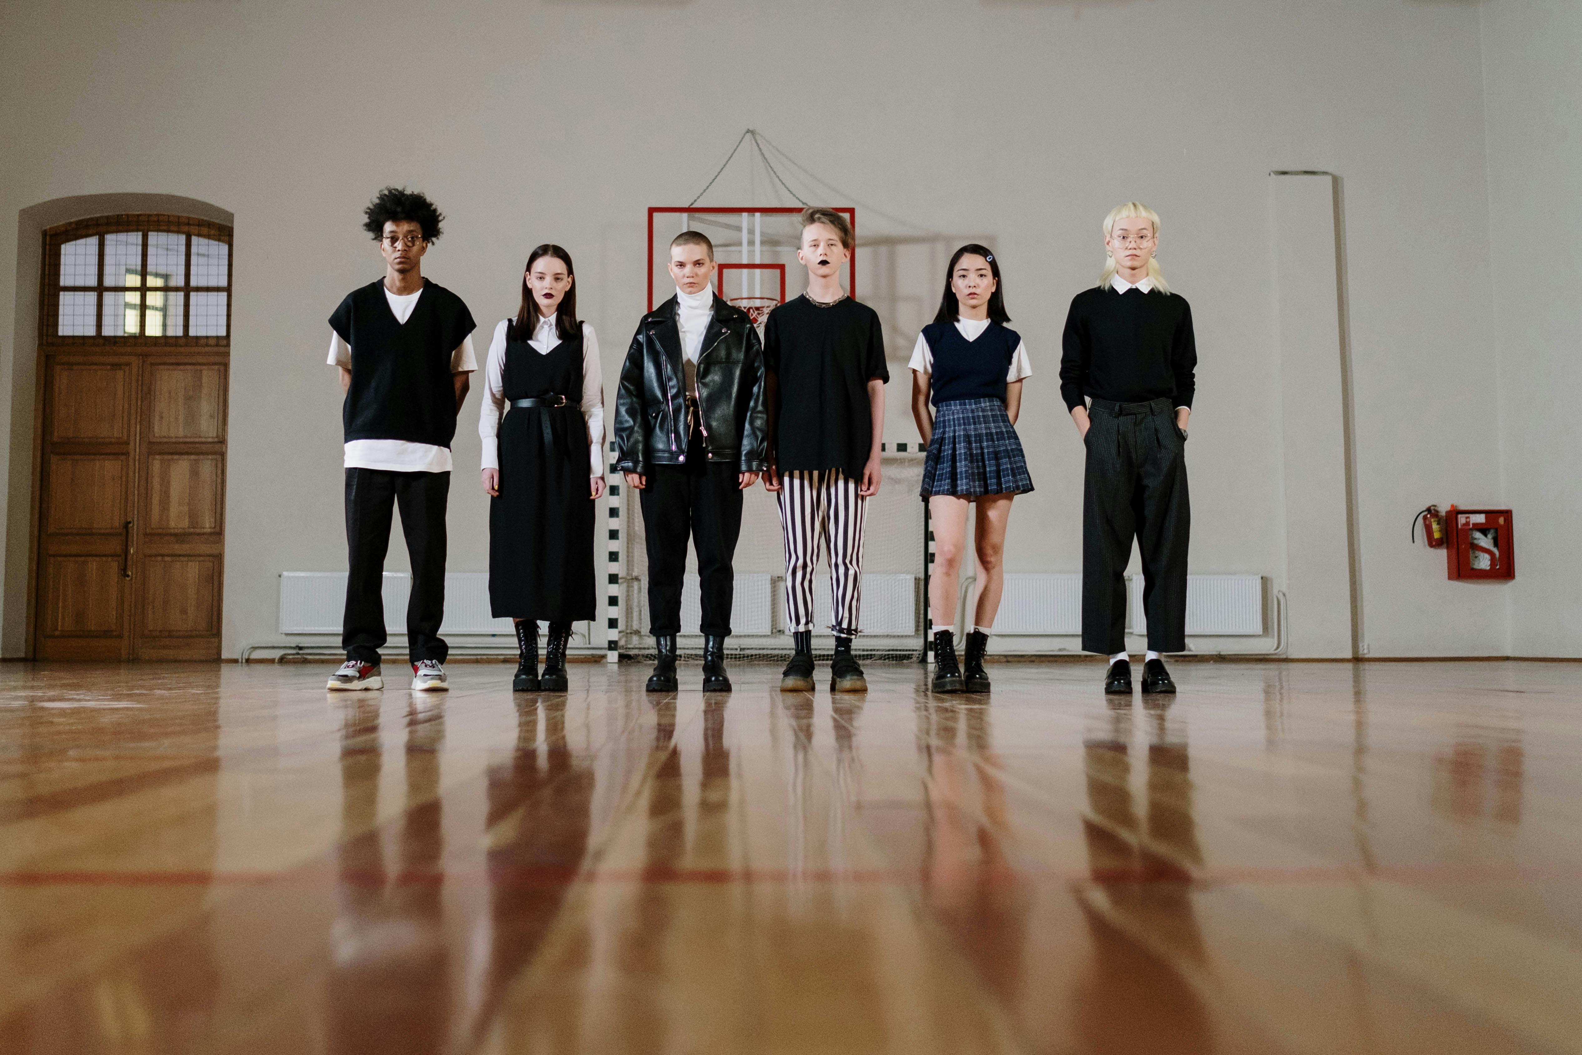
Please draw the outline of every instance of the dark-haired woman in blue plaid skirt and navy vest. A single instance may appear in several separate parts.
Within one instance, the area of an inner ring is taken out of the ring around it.
[[[1006,327],[1009,321],[993,253],[982,245],[963,245],[951,256],[940,313],[922,327],[911,353],[911,414],[929,448],[922,497],[929,503],[935,541],[929,609],[935,625],[937,693],[989,691],[984,655],[1005,587],[1000,562],[1005,528],[1011,500],[1033,490],[1022,441],[1016,437],[1022,380],[1033,369],[1027,345]],[[967,634],[963,677],[951,628],[971,505],[978,506],[973,530],[978,604],[973,630]]]

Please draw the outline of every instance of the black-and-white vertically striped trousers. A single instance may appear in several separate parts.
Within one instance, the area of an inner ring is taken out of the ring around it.
[[[813,630],[813,569],[829,554],[831,630],[857,634],[862,609],[862,522],[869,500],[838,468],[782,475],[780,527],[786,539],[786,617]]]

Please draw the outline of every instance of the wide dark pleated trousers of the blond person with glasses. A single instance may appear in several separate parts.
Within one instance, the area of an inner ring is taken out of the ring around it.
[[[1082,650],[1126,647],[1126,562],[1142,550],[1142,611],[1149,649],[1186,650],[1186,440],[1174,400],[1088,410],[1082,484]]]

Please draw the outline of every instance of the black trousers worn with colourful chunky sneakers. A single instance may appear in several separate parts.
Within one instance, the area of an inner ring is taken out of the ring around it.
[[[400,506],[400,528],[411,558],[407,601],[407,650],[411,661],[449,653],[440,637],[445,618],[445,505],[449,473],[346,470],[346,614],[340,644],[348,660],[378,663],[384,644],[384,554],[391,544],[391,511]]]

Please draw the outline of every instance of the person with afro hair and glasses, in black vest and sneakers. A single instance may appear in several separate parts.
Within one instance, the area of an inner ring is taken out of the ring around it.
[[[332,690],[383,688],[384,552],[400,506],[411,557],[407,650],[414,690],[445,690],[445,509],[451,438],[467,399],[473,315],[459,296],[422,277],[422,256],[445,217],[419,191],[386,187],[364,209],[362,229],[384,256],[384,275],[353,289],[329,316],[329,364],[345,394],[346,661]]]

